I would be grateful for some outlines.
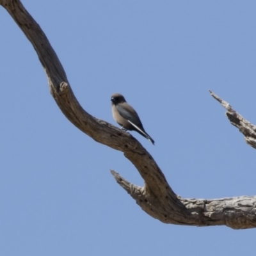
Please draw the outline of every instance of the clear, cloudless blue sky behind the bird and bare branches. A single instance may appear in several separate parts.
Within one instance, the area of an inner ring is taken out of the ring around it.
[[[134,106],[185,198],[255,195],[255,150],[209,89],[256,124],[256,1],[22,1],[84,109]],[[113,179],[137,170],[61,113],[36,53],[0,8],[0,255],[255,255],[255,229],[166,225]],[[117,125],[117,124],[115,124]]]

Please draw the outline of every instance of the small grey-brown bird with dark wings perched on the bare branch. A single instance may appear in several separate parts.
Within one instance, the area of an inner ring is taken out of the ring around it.
[[[115,93],[111,95],[111,101],[113,118],[117,124],[122,126],[121,129],[139,132],[154,145],[155,141],[147,134],[137,112],[126,102],[124,96]]]

